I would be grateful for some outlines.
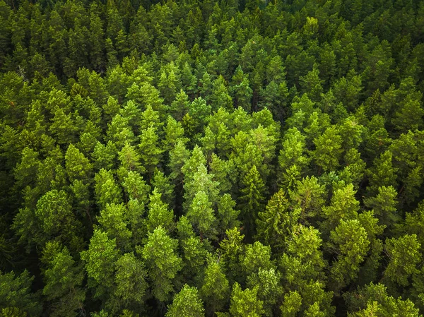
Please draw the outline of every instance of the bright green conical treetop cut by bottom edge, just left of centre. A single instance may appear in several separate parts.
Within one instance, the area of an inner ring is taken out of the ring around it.
[[[201,317],[205,316],[203,302],[199,298],[196,287],[184,285],[168,306],[165,317]]]

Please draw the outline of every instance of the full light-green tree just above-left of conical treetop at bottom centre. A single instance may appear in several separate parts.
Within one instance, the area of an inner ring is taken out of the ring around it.
[[[182,259],[176,253],[177,240],[167,236],[163,227],[148,234],[145,246],[137,248],[146,261],[152,293],[158,301],[167,301],[174,289],[172,280],[182,268]]]

